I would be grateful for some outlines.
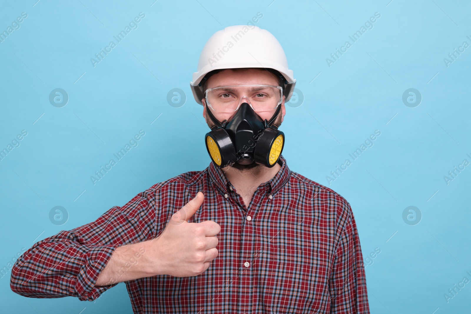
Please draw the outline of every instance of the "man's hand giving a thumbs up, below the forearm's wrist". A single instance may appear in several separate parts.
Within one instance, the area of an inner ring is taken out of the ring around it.
[[[198,192],[179,211],[172,215],[163,232],[147,241],[148,258],[154,259],[154,274],[188,277],[202,274],[218,256],[219,224],[207,220],[190,223],[188,220],[203,204],[204,195]]]

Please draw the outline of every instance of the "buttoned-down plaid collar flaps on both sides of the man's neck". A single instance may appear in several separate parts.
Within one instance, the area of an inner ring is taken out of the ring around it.
[[[269,189],[273,194],[284,186],[284,184],[288,181],[288,178],[290,177],[291,170],[288,168],[288,165],[286,164],[286,160],[284,159],[283,155],[280,156],[278,163],[281,165],[281,169],[276,173],[275,177],[271,178],[267,182],[260,184],[257,189]],[[222,171],[222,169],[220,169],[214,163],[214,161],[211,161],[208,167],[208,173],[211,183],[215,185],[221,191],[221,193],[228,193],[227,191],[230,190],[230,187],[232,187],[232,185],[227,180],[227,177]]]

